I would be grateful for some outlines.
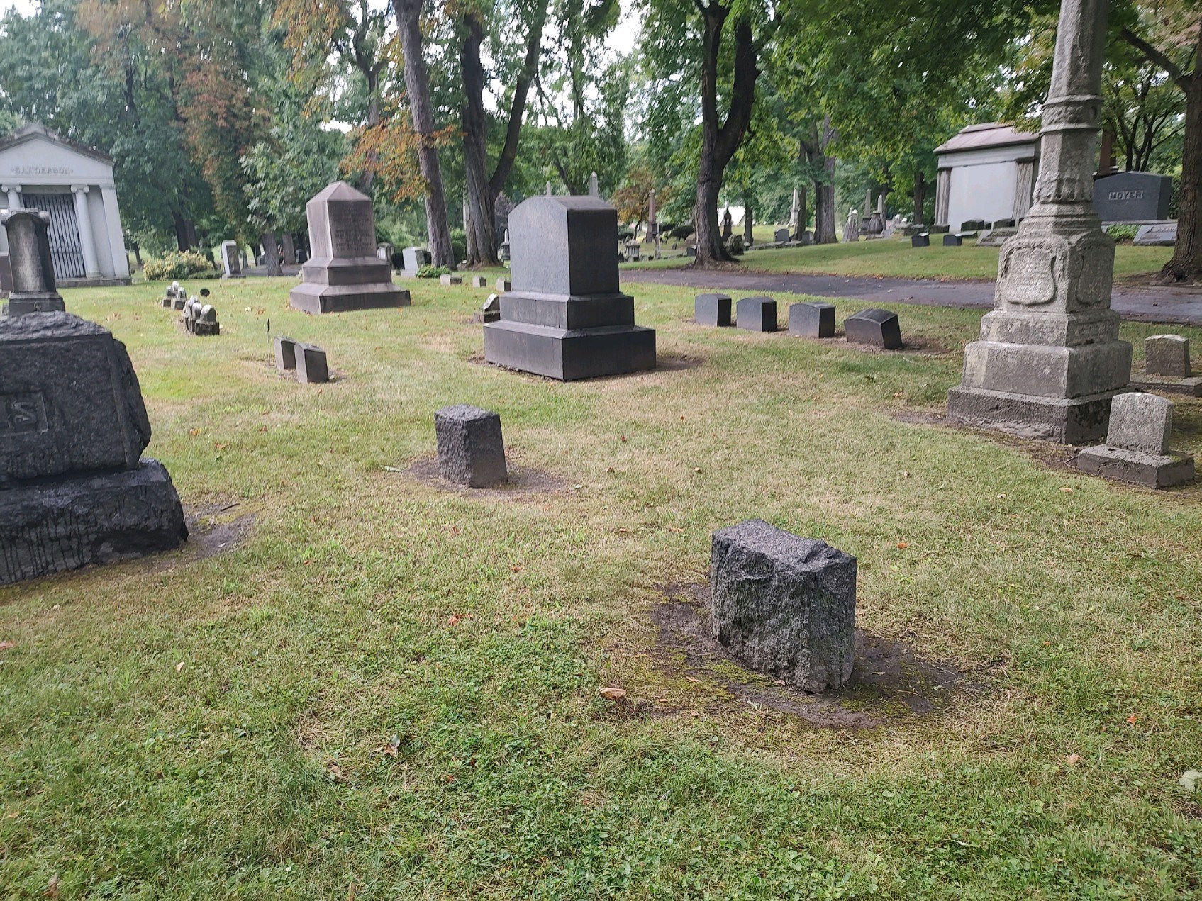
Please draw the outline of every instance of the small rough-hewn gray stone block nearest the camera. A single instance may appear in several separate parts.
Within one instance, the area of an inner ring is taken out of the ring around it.
[[[751,669],[808,692],[851,678],[856,559],[761,519],[714,532],[714,637]]]

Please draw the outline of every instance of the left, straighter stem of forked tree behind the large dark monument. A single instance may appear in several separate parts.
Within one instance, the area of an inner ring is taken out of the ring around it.
[[[488,178],[484,67],[480,61],[484,24],[477,11],[468,8],[470,11],[463,17],[465,35],[459,53],[465,97],[462,114],[463,160],[468,184],[463,228],[468,238],[468,263],[496,265],[495,198]]]

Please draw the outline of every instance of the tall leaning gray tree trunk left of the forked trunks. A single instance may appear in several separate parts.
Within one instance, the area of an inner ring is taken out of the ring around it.
[[[447,225],[447,199],[442,190],[442,165],[439,149],[434,145],[434,113],[430,108],[430,80],[422,56],[422,29],[418,22],[421,0],[392,0],[400,34],[400,48],[405,56],[405,93],[409,111],[413,118],[413,132],[418,138],[417,161],[426,179],[426,229],[430,239],[430,257],[434,265],[454,269],[454,247],[451,245],[451,228]]]

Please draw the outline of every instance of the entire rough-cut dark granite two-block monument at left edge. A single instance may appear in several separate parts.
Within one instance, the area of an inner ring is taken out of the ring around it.
[[[125,346],[66,312],[0,320],[0,584],[175,548]]]

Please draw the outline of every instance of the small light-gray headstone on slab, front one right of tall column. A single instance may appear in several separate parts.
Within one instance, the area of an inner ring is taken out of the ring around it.
[[[1170,488],[1194,478],[1194,458],[1168,449],[1173,402],[1155,394],[1119,394],[1111,401],[1106,443],[1077,454],[1077,469],[1103,478]]]

